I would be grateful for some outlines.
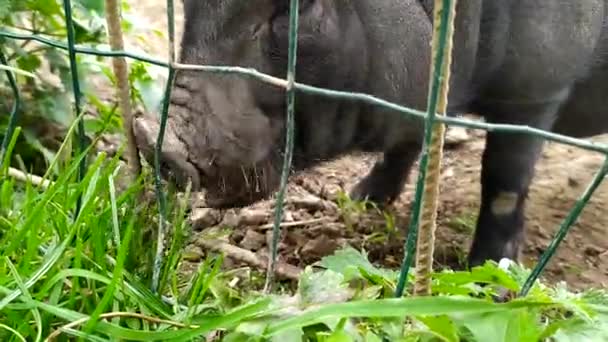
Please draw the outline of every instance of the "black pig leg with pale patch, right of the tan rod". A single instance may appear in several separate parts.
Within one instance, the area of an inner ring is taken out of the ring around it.
[[[522,124],[549,130],[560,103],[484,106],[493,123]],[[543,148],[541,138],[489,132],[482,157],[481,205],[469,254],[469,267],[486,260],[518,261],[524,236],[524,205],[534,167]]]

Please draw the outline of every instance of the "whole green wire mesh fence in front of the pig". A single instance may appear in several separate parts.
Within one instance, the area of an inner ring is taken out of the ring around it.
[[[77,54],[90,54],[96,56],[104,56],[104,57],[112,57],[112,58],[128,58],[133,60],[139,60],[142,62],[154,64],[157,66],[166,67],[168,69],[168,81],[167,86],[164,93],[163,98],[163,106],[160,115],[160,130],[158,139],[156,142],[156,150],[155,150],[155,188],[156,195],[159,204],[159,227],[158,227],[158,243],[157,243],[157,258],[155,260],[155,274],[153,284],[158,284],[158,270],[161,268],[162,264],[162,251],[163,251],[163,237],[165,227],[165,217],[166,217],[166,195],[163,192],[161,186],[161,174],[160,174],[160,152],[161,146],[163,144],[168,111],[169,111],[169,97],[171,95],[173,79],[175,77],[175,73],[177,70],[197,70],[200,72],[209,72],[209,73],[230,73],[230,74],[239,74],[242,77],[250,77],[257,79],[259,81],[268,83],[275,87],[283,88],[286,90],[286,103],[287,103],[287,135],[286,135],[286,153],[284,157],[281,182],[278,194],[276,196],[276,206],[275,206],[275,216],[274,216],[274,228],[273,228],[273,239],[271,246],[271,260],[268,263],[268,272],[266,279],[266,289],[270,289],[272,285],[272,275],[274,273],[275,262],[277,258],[277,244],[279,241],[280,235],[280,220],[282,217],[283,210],[283,202],[285,198],[287,179],[289,175],[289,171],[291,169],[291,158],[293,153],[293,139],[294,139],[294,121],[295,121],[295,98],[296,98],[296,90],[302,93],[325,96],[328,98],[348,100],[348,101],[360,101],[367,104],[372,104],[376,106],[383,106],[386,109],[390,109],[392,111],[396,111],[402,113],[403,115],[415,117],[419,120],[424,120],[425,122],[425,136],[424,136],[424,145],[422,151],[422,158],[420,162],[420,172],[419,178],[416,184],[416,194],[415,201],[413,205],[413,214],[411,215],[411,222],[408,229],[408,237],[406,246],[404,248],[404,262],[401,268],[401,274],[399,283],[397,286],[397,291],[395,293],[396,296],[402,296],[405,287],[405,280],[407,279],[408,272],[411,267],[411,263],[413,260],[413,255],[415,254],[416,249],[416,237],[418,234],[418,227],[424,222],[421,222],[422,218],[426,218],[421,213],[424,208],[425,201],[430,201],[432,198],[429,198],[427,192],[429,191],[428,184],[426,184],[426,175],[429,173],[437,173],[438,169],[429,170],[429,155],[432,152],[434,144],[441,143],[436,136],[433,134],[434,127],[443,127],[443,125],[453,125],[460,127],[467,127],[472,129],[481,129],[490,132],[505,132],[505,133],[520,133],[533,135],[548,141],[558,142],[561,144],[566,144],[582,149],[586,149],[589,151],[595,151],[604,154],[604,156],[608,157],[608,146],[604,144],[594,143],[584,139],[575,139],[572,137],[568,137],[565,135],[560,135],[556,133],[552,133],[549,131],[544,131],[528,126],[519,126],[519,125],[510,125],[510,124],[492,124],[485,122],[477,122],[468,119],[460,119],[460,118],[452,118],[444,115],[437,115],[438,109],[445,110],[445,106],[440,105],[441,95],[447,95],[446,84],[447,80],[443,71],[449,69],[449,61],[451,60],[451,27],[450,20],[453,20],[457,13],[455,12],[455,3],[456,0],[436,0],[436,21],[435,21],[435,35],[434,35],[434,54],[433,54],[433,66],[432,70],[434,72],[431,73],[432,80],[430,82],[429,89],[429,97],[428,97],[428,107],[427,111],[419,111],[414,110],[408,107],[404,107],[392,102],[388,102],[381,98],[364,94],[364,93],[354,93],[354,92],[344,92],[337,91],[332,89],[324,89],[319,87],[314,87],[307,84],[298,83],[296,81],[296,56],[297,56],[297,25],[298,25],[298,0],[290,0],[290,12],[289,12],[289,56],[288,56],[288,68],[286,79],[281,79],[277,77],[273,77],[268,74],[261,73],[255,69],[244,68],[244,67],[226,67],[226,66],[213,66],[213,65],[186,65],[177,63],[175,61],[175,23],[174,23],[174,5],[172,0],[167,0],[167,19],[169,23],[168,27],[168,35],[169,35],[169,56],[168,61],[159,60],[150,56],[139,55],[129,53],[127,51],[121,50],[96,50],[91,49],[84,46],[76,46],[74,39],[74,23],[72,20],[72,4],[70,0],[63,0],[63,9],[65,14],[65,24],[67,28],[67,41],[61,42],[52,39],[48,39],[46,37],[42,37],[35,34],[23,34],[19,32],[11,32],[6,29],[0,30],[0,39],[15,39],[15,40],[34,40],[42,44],[46,44],[48,46],[52,46],[58,49],[67,50],[69,53],[70,60],[70,68],[72,74],[72,84],[73,84],[73,97],[74,97],[74,111],[76,112],[76,117],[81,117],[82,111],[82,95],[80,93],[80,84],[78,77],[78,68],[76,64],[76,55]],[[438,19],[438,20],[437,20]],[[1,42],[0,40],[0,42]],[[454,44],[458,44],[458,42],[454,42]],[[0,45],[0,63],[8,67],[7,60],[4,55],[4,51],[2,51],[2,46]],[[405,58],[405,56],[404,56]],[[6,152],[6,147],[8,142],[18,125],[19,122],[19,113],[21,110],[21,96],[18,84],[16,82],[15,76],[13,72],[9,69],[5,69],[5,75],[8,79],[8,83],[13,92],[13,107],[10,112],[9,124],[7,131],[4,136],[4,140],[2,142],[2,148],[0,150],[0,163],[4,160],[4,154]],[[444,108],[440,108],[444,107]],[[77,127],[77,144],[75,146],[75,150],[77,153],[81,153],[86,149],[86,140],[85,140],[85,128],[82,120],[79,119]],[[436,133],[436,132],[435,132]],[[435,138],[434,138],[435,137]],[[435,146],[436,147],[436,146]],[[440,165],[440,164],[438,164]],[[86,172],[86,160],[83,159],[79,166],[79,179],[82,179],[83,175]],[[585,208],[586,204],[589,202],[593,193],[597,190],[602,180],[605,178],[606,174],[608,174],[608,158],[605,160],[602,167],[596,172],[593,180],[588,185],[584,193],[579,197],[575,206],[569,212],[567,217],[561,223],[558,233],[553,238],[550,245],[542,254],[539,262],[536,264],[529,278],[526,280],[520,295],[526,295],[530,289],[532,288],[535,281],[540,277],[541,273],[547,266],[547,263],[555,254],[556,250],[559,248],[561,242],[567,235],[568,231],[577,221],[580,216],[582,210]],[[80,203],[80,202],[79,202]],[[79,205],[78,205],[79,206]],[[430,207],[432,209],[432,206]],[[78,211],[79,208],[77,207]],[[431,215],[431,219],[433,216]],[[428,220],[428,219],[427,219]],[[433,241],[431,241],[433,243]],[[420,276],[420,274],[417,274]],[[154,286],[153,286],[154,287]]]

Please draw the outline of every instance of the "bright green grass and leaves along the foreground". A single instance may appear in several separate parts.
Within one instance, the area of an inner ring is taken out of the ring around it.
[[[604,291],[575,294],[537,284],[525,298],[495,303],[499,288],[521,287],[527,270],[516,266],[444,271],[434,277],[435,296],[400,299],[392,298],[397,273],[351,248],[307,268],[293,293],[261,294],[254,286],[262,283],[259,273],[223,269],[222,255],[208,254],[185,276],[178,269],[190,234],[187,203],[173,195],[161,290],[153,293],[158,212],[139,195],[149,177],[118,189],[118,157],[101,154],[78,183],[79,158],[46,190],[9,178],[3,164],[1,341],[204,341],[210,334],[222,341],[608,338]],[[235,287],[235,277],[249,279]]]

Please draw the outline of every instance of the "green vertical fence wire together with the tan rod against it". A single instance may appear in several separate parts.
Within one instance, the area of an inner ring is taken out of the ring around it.
[[[435,21],[433,24],[434,34],[432,47],[433,60],[431,65],[432,81],[429,85],[430,91],[427,105],[427,118],[425,121],[424,129],[424,145],[422,156],[420,157],[418,179],[416,182],[416,193],[414,198],[414,205],[412,208],[410,225],[408,228],[408,237],[406,239],[406,245],[404,247],[405,257],[401,265],[399,281],[397,283],[397,289],[395,291],[395,296],[397,297],[401,297],[403,295],[403,292],[405,291],[405,285],[407,283],[409,269],[412,264],[412,260],[414,259],[416,240],[419,238],[418,233],[422,219],[424,219],[422,224],[426,230],[426,234],[420,237],[425,238],[425,240],[432,240],[434,236],[434,212],[436,211],[438,192],[437,173],[439,172],[441,166],[441,151],[437,150],[437,148],[441,148],[441,145],[436,145],[436,143],[439,142],[439,144],[441,144],[443,138],[443,125],[437,125],[437,130],[434,127],[436,125],[435,116],[437,113],[437,108],[439,107],[439,105],[441,105],[442,108],[440,109],[442,111],[445,111],[445,107],[447,104],[446,97],[449,80],[444,75],[449,75],[448,64],[451,61],[452,44],[450,41],[452,39],[451,35],[453,31],[452,26],[453,18],[455,15],[455,3],[456,0],[435,0]],[[446,50],[448,53],[447,56]],[[429,165],[433,166],[435,170],[432,171],[434,172],[428,173]],[[428,184],[429,181],[434,184]],[[427,185],[430,185],[429,189],[427,189]],[[428,203],[428,205],[424,206],[424,203]],[[425,263],[427,264],[427,267],[428,263],[432,262],[432,254],[429,253],[433,253],[433,243],[434,241],[424,241],[426,248],[422,251],[419,251],[419,253],[426,254],[422,255],[422,259],[426,259]],[[418,272],[418,276],[426,278],[427,275],[425,275],[425,273],[428,275],[428,273],[430,273],[430,270],[421,270],[420,272]],[[428,285],[422,285],[422,287],[425,286]],[[418,288],[420,287],[418,286]]]

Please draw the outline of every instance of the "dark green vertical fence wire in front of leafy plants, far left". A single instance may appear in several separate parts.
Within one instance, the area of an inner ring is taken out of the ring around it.
[[[63,0],[63,11],[65,14],[65,25],[67,29],[68,36],[68,55],[70,60],[70,74],[72,75],[72,92],[74,93],[74,109],[76,111],[76,120],[78,120],[78,130],[76,132],[76,136],[78,137],[78,142],[74,147],[74,151],[77,151],[77,154],[84,152],[86,149],[86,136],[85,136],[85,128],[84,121],[80,116],[82,111],[82,94],[80,92],[80,81],[78,78],[78,63],[76,62],[76,38],[74,33],[74,20],[72,18],[72,2],[71,0]],[[84,178],[84,175],[87,170],[87,159],[82,158],[80,161],[80,165],[78,167],[78,182],[81,182]],[[80,213],[80,206],[82,205],[82,195],[78,196],[78,200],[76,202],[76,216]]]

